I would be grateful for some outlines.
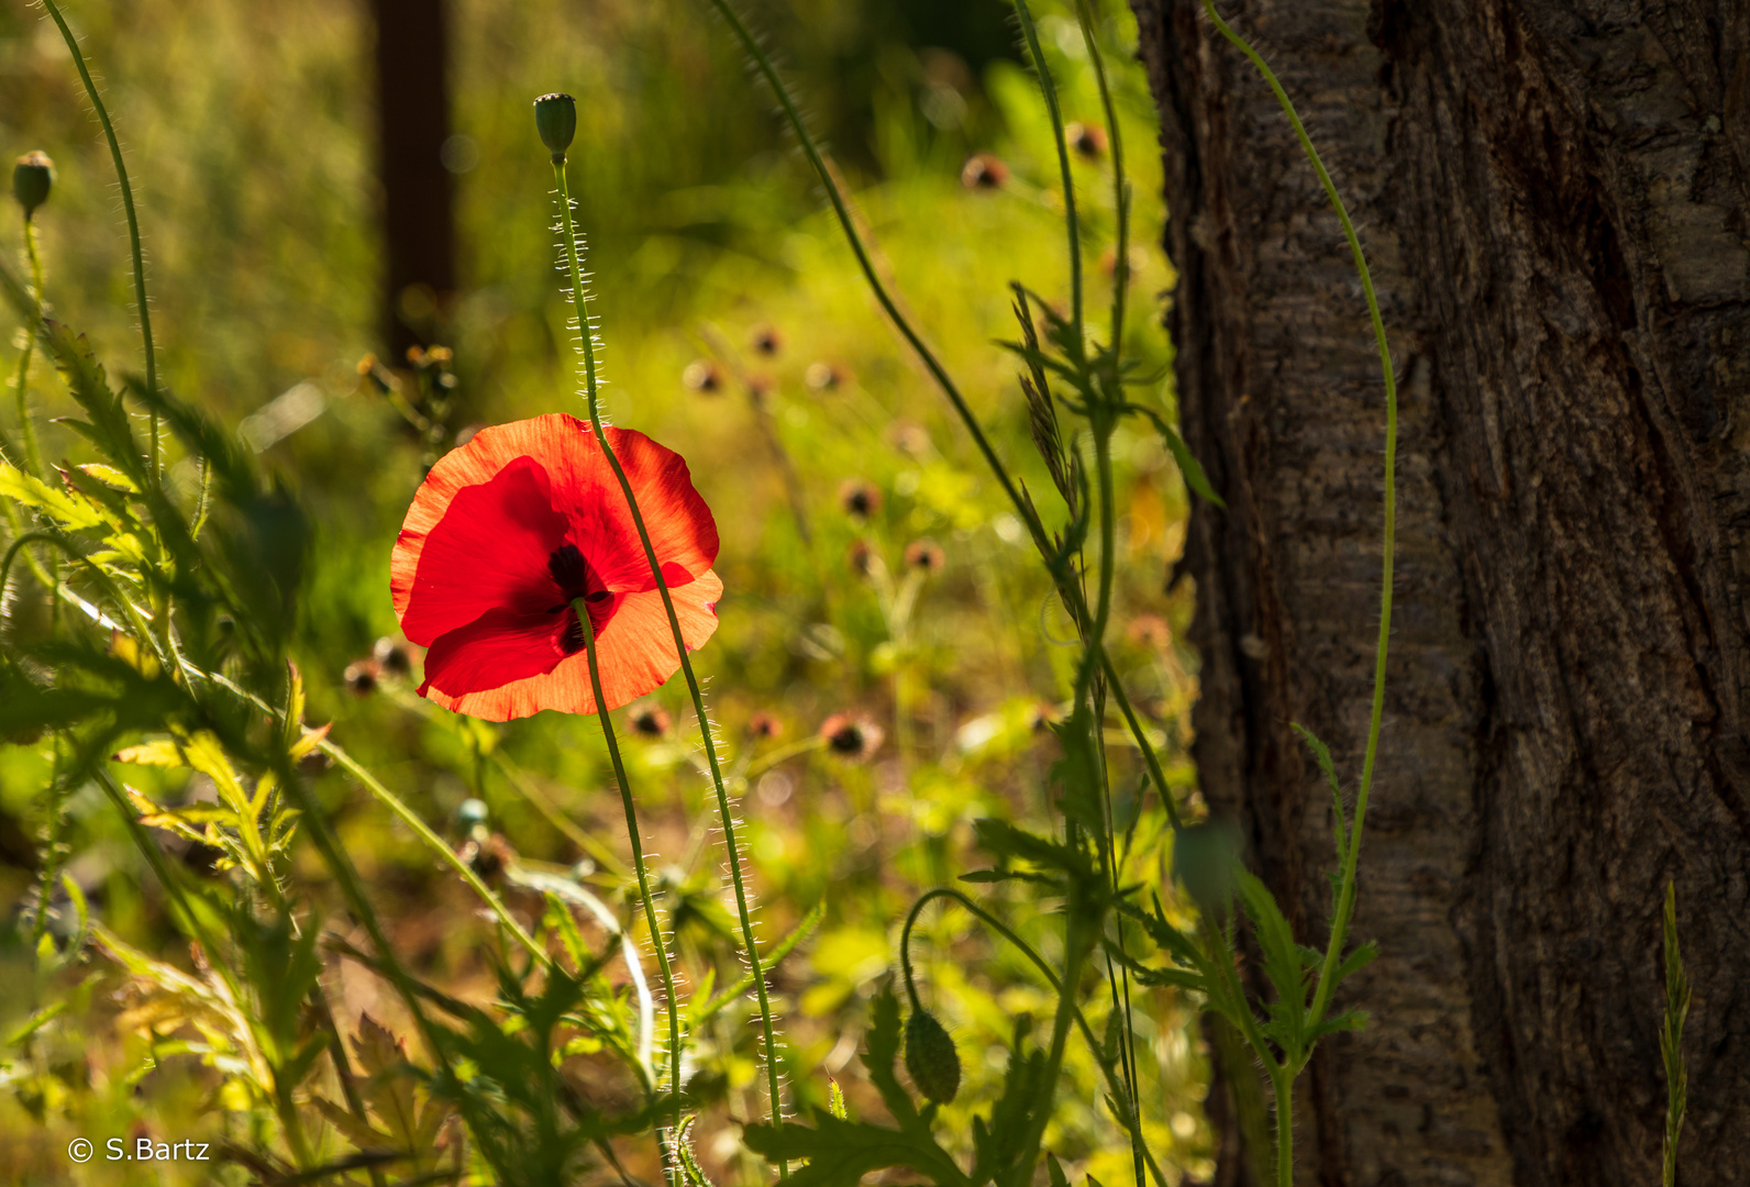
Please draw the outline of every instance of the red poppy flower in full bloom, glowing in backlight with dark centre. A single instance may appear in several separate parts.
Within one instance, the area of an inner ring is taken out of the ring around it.
[[[718,525],[679,453],[607,429],[644,513],[688,651],[718,629]],[[390,562],[408,639],[430,648],[420,693],[488,721],[597,713],[584,599],[607,709],[681,667],[662,592],[590,425],[550,415],[481,429],[413,495]]]

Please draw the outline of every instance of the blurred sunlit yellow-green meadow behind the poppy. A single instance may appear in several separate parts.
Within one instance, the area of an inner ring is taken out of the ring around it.
[[[1078,124],[1073,168],[1097,305],[1115,271],[1104,116],[1071,5],[1036,12],[1064,117]],[[360,1147],[364,1126],[436,1150],[452,1124],[430,1105],[432,1084],[443,1089],[438,1049],[478,1070],[509,1057],[502,1043],[485,1050],[500,1042],[494,1035],[553,1056],[528,1066],[556,1063],[558,1094],[579,1091],[614,1115],[637,1112],[642,1089],[625,1068],[639,1063],[644,973],[626,959],[637,949],[616,944],[621,926],[634,937],[640,930],[606,755],[581,741],[588,730],[553,714],[494,727],[418,700],[418,655],[394,637],[388,602],[388,550],[424,467],[480,424],[578,411],[569,306],[553,273],[551,177],[528,123],[528,100],[542,89],[579,100],[572,193],[607,341],[606,408],[690,460],[723,529],[723,627],[700,660],[746,795],[765,944],[810,923],[824,902],[817,926],[772,977],[796,1106],[826,1106],[838,1085],[852,1112],[878,1113],[884,1092],[864,1080],[856,1054],[872,1005],[898,993],[906,907],[987,863],[973,856],[975,819],[1054,818],[1045,784],[1059,746],[1045,727],[1068,711],[1078,651],[1064,644],[1074,623],[1001,488],[870,301],[810,172],[770,117],[768,95],[746,82],[735,39],[704,14],[705,5],[677,0],[452,4],[443,161],[457,193],[460,284],[453,298],[388,294],[425,343],[396,355],[380,317],[368,14],[322,0],[70,12],[100,65],[138,184],[159,378],[184,404],[236,429],[254,466],[273,476],[259,488],[296,497],[312,534],[298,597],[266,651],[298,662],[304,720],[332,721],[329,737],[441,833],[460,865],[500,889],[520,926],[562,952],[567,977],[584,989],[553,975],[530,987],[514,975],[506,961],[522,970],[532,958],[514,942],[500,947],[502,923],[481,916],[457,868],[343,767],[322,765],[320,751],[290,755],[290,737],[280,758],[301,760],[394,951],[458,1010],[474,1010],[462,1038],[434,1043],[380,975],[387,970],[341,958],[340,945],[369,949],[369,937],[312,846],[262,858],[242,832],[234,853],[210,844],[224,840],[205,835],[222,825],[212,812],[228,805],[222,755],[203,758],[205,767],[186,749],[175,763],[136,762],[128,784],[154,807],[180,811],[192,830],[161,842],[177,877],[208,889],[243,879],[270,903],[266,888],[287,879],[329,921],[332,944],[298,958],[304,972],[310,961],[320,966],[324,991],[250,1003],[238,989],[254,984],[248,961],[238,958],[233,984],[214,956],[191,954],[149,849],[135,844],[117,805],[98,783],[63,777],[66,744],[52,734],[12,739],[0,746],[0,893],[14,903],[0,938],[0,1038],[10,1040],[0,1052],[0,1140],[24,1182],[163,1182],[161,1173],[205,1182],[214,1173],[102,1162],[77,1171],[65,1148],[80,1134],[224,1140],[299,1162],[289,1138],[275,1134],[306,1127],[312,1136],[298,1140],[312,1143],[312,1159],[343,1157]],[[1050,490],[1017,362],[992,345],[1017,333],[1010,278],[1054,306],[1069,301],[1052,128],[1008,5],[791,0],[758,18],[835,147],[877,266],[905,278],[915,324],[998,450],[1031,459],[1015,462],[1017,474],[1034,492]],[[1162,217],[1152,103],[1139,72],[1120,65],[1130,58],[1129,21],[1108,4],[1099,35],[1136,145],[1127,161],[1136,313],[1124,345],[1139,373],[1155,375],[1171,357],[1155,294],[1171,278],[1152,247]],[[0,11],[0,144],[56,161],[52,198],[35,215],[47,312],[89,336],[119,387],[138,369],[138,336],[108,151],[66,46],[37,9]],[[23,252],[21,222],[9,226],[4,242]],[[1043,334],[1045,310],[1032,312]],[[18,359],[14,350],[0,361],[7,382]],[[79,434],[51,424],[77,411],[51,366],[33,368],[26,396],[42,457],[91,460]],[[1132,399],[1172,415],[1160,383],[1132,389]],[[4,406],[10,432],[16,404]],[[1169,781],[1195,809],[1185,758],[1192,657],[1176,643],[1190,592],[1166,585],[1186,494],[1157,434],[1139,424],[1115,429],[1111,455],[1118,579],[1110,646]],[[200,469],[186,438],[166,445],[166,488],[192,509]],[[51,599],[24,569],[19,560],[5,590],[9,646],[88,630],[66,622],[77,615],[66,604],[54,611],[65,625],[54,627]],[[264,660],[257,667],[268,671]],[[744,993],[716,996],[735,986],[740,966],[691,707],[684,688],[670,686],[621,718],[660,909],[695,1000],[688,1091],[700,1117],[690,1140],[714,1182],[760,1182],[768,1171],[733,1124],[761,1115],[758,1028]],[[1111,741],[1124,746],[1116,734]],[[236,762],[270,763],[262,755]],[[1167,895],[1158,800],[1144,800],[1134,777],[1118,786],[1113,809],[1136,839],[1132,863],[1152,863],[1152,882]],[[250,777],[245,793],[256,790]],[[994,896],[1022,935],[1062,959],[1050,912],[1010,889]],[[282,916],[285,931],[271,944],[285,947],[310,916]],[[957,903],[924,912],[917,928],[917,980],[964,1073],[940,1115],[962,1136],[954,1152],[970,1154],[973,1106],[1003,1082],[1015,1019],[1046,1019],[1055,994]],[[317,937],[315,926],[304,935]],[[233,949],[254,951],[243,938]],[[222,1005],[226,993],[229,1014],[208,1000]],[[354,1056],[357,1101],[332,1057],[318,1061],[306,1047],[320,1019],[299,1001],[318,998]],[[163,1001],[180,1005],[145,1008]],[[542,1050],[579,1001],[595,1003],[590,1026]],[[1172,987],[1138,989],[1134,1015],[1150,1145],[1174,1175],[1204,1175],[1197,1003]],[[506,1026],[509,1017],[532,1021]],[[1099,1008],[1088,1021],[1106,1033]],[[415,1087],[410,1066],[439,1078]],[[1129,1182],[1129,1140],[1099,1103],[1106,1082],[1096,1059],[1073,1043],[1064,1066],[1046,1148],[1078,1180]],[[446,1099],[467,1115],[466,1094]],[[444,1147],[457,1148],[455,1140]],[[618,1162],[637,1178],[660,1176],[648,1136],[602,1133],[595,1148],[604,1175]],[[264,1166],[245,1162],[256,1175],[273,1171]],[[415,1176],[406,1166],[392,1175]]]

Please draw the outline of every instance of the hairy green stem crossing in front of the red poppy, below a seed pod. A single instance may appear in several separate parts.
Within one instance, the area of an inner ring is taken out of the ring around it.
[[[688,658],[686,636],[681,634],[681,618],[674,613],[674,597],[668,594],[668,583],[662,574],[662,562],[656,558],[656,548],[651,544],[649,529],[644,525],[644,513],[639,509],[639,501],[632,494],[632,483],[626,480],[626,471],[621,469],[620,459],[614,455],[614,446],[607,443],[607,434],[602,429],[602,408],[598,399],[598,385],[595,380],[595,341],[590,331],[590,315],[584,308],[584,291],[583,291],[583,266],[578,263],[578,238],[572,229],[570,219],[570,187],[565,182],[565,158],[560,152],[553,154],[553,180],[558,186],[558,208],[560,208],[560,229],[565,238],[565,259],[570,264],[570,296],[572,303],[578,306],[578,336],[583,338],[583,375],[584,390],[590,403],[590,427],[595,431],[595,439],[602,446],[602,455],[614,471],[614,478],[620,481],[620,490],[626,499],[626,509],[632,513],[632,525],[639,530],[639,543],[644,544],[644,560],[651,567],[651,576],[656,581],[656,592],[662,594],[663,611],[668,615],[668,629],[674,632],[674,650],[681,657],[681,672],[686,674],[686,690],[693,697],[693,714],[698,718],[698,732],[705,741],[705,762],[710,765],[710,781],[718,790],[718,814],[723,818],[723,844],[730,851],[730,881],[735,884],[735,910],[740,916],[742,924],[742,947],[747,951],[747,963],[751,966],[754,980],[754,996],[760,1001],[760,1026],[765,1038],[766,1050],[766,1089],[772,1098],[772,1126],[784,1124],[784,1096],[779,1089],[779,1071],[777,1071],[777,1040],[772,1033],[772,998],[766,993],[765,968],[760,965],[760,945],[754,940],[754,924],[747,910],[747,886],[742,879],[742,854],[735,842],[735,816],[730,812],[730,793],[723,783],[723,767],[718,762],[718,741],[710,734],[710,716],[705,713],[705,697],[698,690],[698,676],[693,672],[693,662]],[[584,629],[584,637],[590,632]],[[597,695],[597,704],[602,704],[600,695]],[[676,1049],[679,1052],[679,1047]],[[679,1091],[679,1054],[676,1054],[676,1091]],[[777,1164],[779,1178],[789,1178],[789,1164]]]

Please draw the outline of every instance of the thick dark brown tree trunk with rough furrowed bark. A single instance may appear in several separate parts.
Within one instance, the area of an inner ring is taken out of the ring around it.
[[[1195,758],[1302,942],[1306,723],[1360,770],[1384,403],[1276,100],[1134,0],[1162,117],[1199,504]],[[1694,1008],[1680,1182],[1750,1176],[1750,5],[1242,0],[1374,264],[1402,380],[1386,730],[1298,1182],[1659,1182],[1659,912]],[[1304,1106],[1304,1108],[1302,1108]],[[1232,1148],[1230,1143],[1225,1148]]]

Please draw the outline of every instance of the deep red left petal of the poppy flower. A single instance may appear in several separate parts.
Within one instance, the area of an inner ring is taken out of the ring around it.
[[[401,629],[418,644],[495,609],[539,613],[564,601],[548,562],[564,546],[570,522],[553,509],[548,473],[532,457],[450,492],[441,515],[422,530],[453,478],[439,478],[438,471],[460,452],[452,450],[432,467],[390,564]]]

